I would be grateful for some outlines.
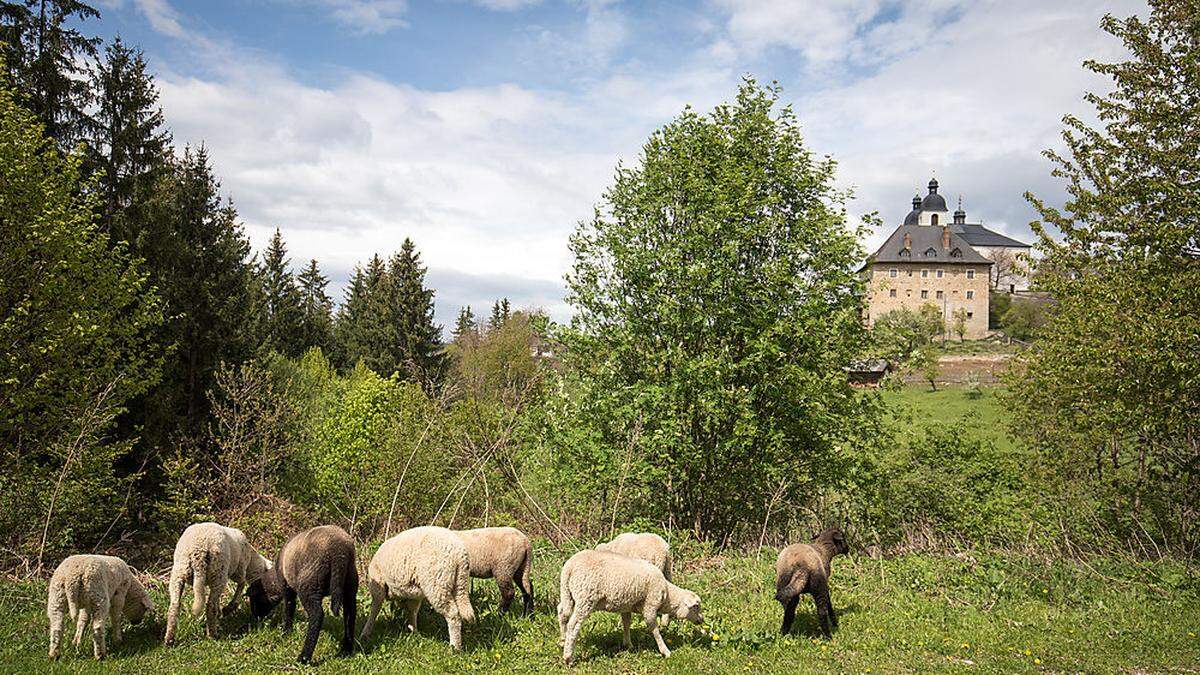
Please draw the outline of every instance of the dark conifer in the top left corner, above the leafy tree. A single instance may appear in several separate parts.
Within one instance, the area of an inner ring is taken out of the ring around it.
[[[85,36],[78,23],[100,18],[79,0],[0,0],[0,60],[46,133],[70,148],[84,127],[88,59],[98,37]]]

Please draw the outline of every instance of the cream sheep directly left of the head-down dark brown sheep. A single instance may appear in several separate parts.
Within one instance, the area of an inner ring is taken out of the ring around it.
[[[175,641],[175,625],[179,622],[179,602],[184,585],[192,581],[192,614],[204,611],[204,634],[216,637],[218,611],[232,613],[241,599],[246,584],[252,584],[270,569],[271,561],[258,555],[241,530],[224,527],[216,522],[190,525],[175,544],[175,556],[170,566],[170,607],[167,609],[166,644]],[[221,593],[233,579],[238,584],[233,598],[223,610]]]

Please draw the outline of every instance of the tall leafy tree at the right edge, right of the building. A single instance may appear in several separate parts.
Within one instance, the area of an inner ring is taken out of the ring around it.
[[[1102,26],[1129,59],[1085,62],[1114,89],[1086,96],[1097,126],[1067,115],[1066,151],[1046,153],[1063,208],[1027,196],[1040,215],[1038,283],[1055,305],[1012,402],[1068,498],[1090,494],[1106,526],[1195,550],[1200,5],[1151,0],[1148,18]]]

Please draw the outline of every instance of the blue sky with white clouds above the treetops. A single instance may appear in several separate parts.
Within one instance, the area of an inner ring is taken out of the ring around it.
[[[890,231],[935,174],[968,220],[1030,240],[1021,195],[1106,83],[1105,11],[1044,0],[97,0],[145,50],[176,142],[211,150],[256,246],[337,294],[358,262],[416,243],[438,318],[500,295],[569,316],[566,239],[618,160],[685,104],[776,80],[853,213]],[[877,245],[886,232],[865,241]]]

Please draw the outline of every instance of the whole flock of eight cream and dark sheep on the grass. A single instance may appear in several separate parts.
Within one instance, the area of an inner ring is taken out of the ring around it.
[[[846,538],[830,527],[805,544],[780,551],[775,561],[775,599],[784,605],[782,632],[791,631],[800,595],[812,596],[822,632],[828,637],[838,620],[829,601],[829,562],[847,551]],[[292,631],[296,602],[308,617],[308,631],[300,650],[302,663],[312,659],[324,622],[323,599],[342,616],[341,652],[354,646],[355,598],[359,572],[354,540],[344,530],[324,525],[306,530],[280,550],[275,562],[263,557],[240,530],[216,522],[198,522],[184,531],[175,544],[170,569],[167,634],[175,640],[179,607],[186,586],[192,586],[192,614],[204,615],[205,634],[216,637],[217,620],[236,610],[242,593],[250,599],[256,619],[269,615],[283,602],[283,631]],[[451,531],[444,527],[414,527],[388,539],[367,566],[371,609],[359,639],[366,641],[374,628],[385,599],[392,607],[403,601],[408,629],[416,629],[416,613],[422,602],[440,614],[455,650],[462,649],[462,625],[475,620],[470,604],[470,579],[496,579],[500,611],[506,611],[521,591],[526,611],[533,610],[533,546],[529,538],[512,527],[484,527]],[[631,649],[629,626],[638,614],[654,637],[659,652],[671,656],[659,632],[659,617],[701,623],[700,596],[671,583],[671,550],[658,534],[625,533],[595,549],[580,551],[563,565],[559,577],[558,629],[563,659],[574,661],[575,641],[583,621],[594,611],[619,614],[624,645]],[[228,583],[236,590],[221,608]],[[119,557],[73,555],[62,561],[50,578],[47,615],[50,620],[50,658],[61,651],[62,626],[67,617],[76,623],[74,644],[91,626],[96,658],[107,655],[106,622],[112,623],[113,641],[121,640],[121,622],[137,625],[150,611],[150,595],[130,566]]]

